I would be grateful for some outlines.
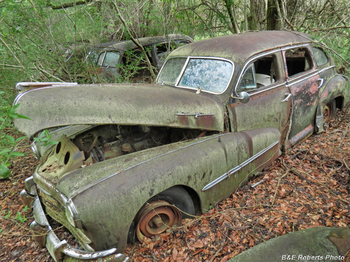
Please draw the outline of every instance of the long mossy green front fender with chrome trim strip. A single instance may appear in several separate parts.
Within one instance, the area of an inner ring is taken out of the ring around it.
[[[147,199],[174,185],[186,185],[198,194],[206,212],[210,204],[230,196],[247,174],[277,158],[279,146],[259,158],[262,166],[253,162],[209,190],[202,191],[203,187],[279,139],[277,129],[266,128],[151,148],[75,170],[56,187],[72,197],[94,249],[118,246],[122,251],[130,224]]]

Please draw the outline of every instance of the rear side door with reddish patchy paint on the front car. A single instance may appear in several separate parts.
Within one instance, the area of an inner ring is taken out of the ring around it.
[[[293,114],[288,139],[293,146],[314,131],[315,112],[322,80],[309,45],[284,48],[282,54],[286,82],[292,94]]]

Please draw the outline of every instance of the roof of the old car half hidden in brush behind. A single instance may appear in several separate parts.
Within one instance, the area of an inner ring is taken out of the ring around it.
[[[168,35],[158,35],[158,36],[147,36],[147,37],[142,37],[139,38],[139,42],[142,46],[148,46],[148,45],[153,45],[157,43],[163,43],[163,42],[168,42],[171,40],[189,40],[190,42],[193,42],[193,39],[187,35],[184,34],[168,34]],[[109,47],[106,47],[103,49],[103,51],[110,51],[113,49],[118,49],[118,50],[123,50],[126,51],[127,49],[133,49],[137,48],[137,46],[134,44],[133,41],[128,40],[124,41],[122,43],[117,43],[114,45],[111,45]]]

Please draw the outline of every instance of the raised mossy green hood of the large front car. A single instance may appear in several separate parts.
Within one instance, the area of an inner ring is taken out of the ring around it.
[[[155,84],[51,86],[18,95],[18,131],[79,124],[129,124],[223,131],[224,108],[189,90]]]

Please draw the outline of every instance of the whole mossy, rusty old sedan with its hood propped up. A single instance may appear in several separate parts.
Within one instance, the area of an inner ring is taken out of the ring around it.
[[[154,84],[69,84],[20,94],[16,128],[54,127],[21,192],[55,261],[123,261],[127,244],[205,213],[343,109],[345,77],[311,36],[250,32],[173,51]],[[40,197],[38,197],[40,196]],[[44,215],[82,249],[59,240]],[[83,250],[84,249],[84,250]]]

